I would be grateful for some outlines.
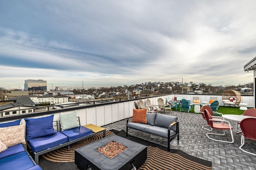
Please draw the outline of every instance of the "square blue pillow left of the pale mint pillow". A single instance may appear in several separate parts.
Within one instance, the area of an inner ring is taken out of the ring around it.
[[[54,115],[36,119],[24,118],[26,121],[26,141],[53,134],[55,132],[52,126],[53,117]]]

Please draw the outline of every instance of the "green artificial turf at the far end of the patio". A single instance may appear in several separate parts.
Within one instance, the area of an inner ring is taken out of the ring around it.
[[[180,107],[178,107],[177,110],[175,108],[172,108],[172,111],[180,111]],[[195,113],[194,108],[192,107],[189,112]],[[244,110],[240,110],[239,107],[234,107],[234,106],[220,106],[218,108],[217,112],[222,113],[224,115],[226,115],[226,114],[242,115],[244,113]],[[198,113],[198,114],[201,114],[201,113]]]

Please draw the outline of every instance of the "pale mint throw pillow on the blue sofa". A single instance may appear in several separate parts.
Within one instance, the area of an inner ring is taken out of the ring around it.
[[[60,127],[62,131],[78,126],[79,125],[77,123],[76,112],[60,114]]]

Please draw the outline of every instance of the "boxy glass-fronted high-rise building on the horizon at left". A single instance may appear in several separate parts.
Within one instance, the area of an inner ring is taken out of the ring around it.
[[[24,90],[47,91],[47,82],[44,80],[25,80]]]

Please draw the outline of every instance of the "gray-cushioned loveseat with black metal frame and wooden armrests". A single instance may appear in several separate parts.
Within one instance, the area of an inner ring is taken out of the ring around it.
[[[160,113],[146,113],[146,123],[129,122],[127,118],[126,136],[128,129],[136,129],[139,131],[152,133],[168,139],[168,151],[170,151],[170,142],[177,137],[179,140],[179,123],[178,117],[170,115],[162,115]]]

